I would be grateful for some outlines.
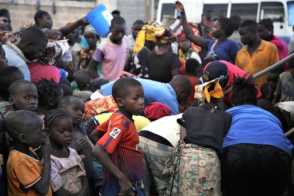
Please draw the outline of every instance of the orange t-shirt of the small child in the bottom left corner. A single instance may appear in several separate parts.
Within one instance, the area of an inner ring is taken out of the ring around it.
[[[33,150],[31,151],[36,155]],[[11,150],[6,169],[9,196],[39,196],[32,188],[41,180],[42,164],[39,159]],[[46,196],[52,196],[50,185]]]

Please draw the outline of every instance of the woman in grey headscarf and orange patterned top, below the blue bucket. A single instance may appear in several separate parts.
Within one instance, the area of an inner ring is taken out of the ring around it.
[[[84,37],[86,38],[89,47],[81,50],[80,61],[78,64],[80,66],[80,69],[88,70],[88,66],[95,53],[95,49],[97,46],[96,44],[97,41],[100,40],[100,36],[92,25],[87,25],[84,29]]]

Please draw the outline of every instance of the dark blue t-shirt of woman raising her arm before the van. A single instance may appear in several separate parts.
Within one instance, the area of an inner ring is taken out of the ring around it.
[[[205,40],[205,46],[207,48],[207,54],[209,54],[211,50],[211,46],[215,41],[211,39]],[[216,52],[217,60],[224,60],[224,61],[233,61],[232,55],[235,55],[240,50],[240,46],[238,43],[234,40],[228,39],[227,41],[223,43],[216,44],[216,47],[214,48],[214,51]]]

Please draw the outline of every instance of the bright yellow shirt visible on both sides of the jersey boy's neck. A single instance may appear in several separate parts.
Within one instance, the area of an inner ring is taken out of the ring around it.
[[[108,120],[112,114],[113,112],[102,113],[102,114],[96,115],[95,118],[98,120],[98,122],[101,125],[106,120]],[[133,115],[133,120],[135,121],[137,132],[141,131],[142,128],[146,127],[149,123],[151,123],[150,120],[144,116]]]

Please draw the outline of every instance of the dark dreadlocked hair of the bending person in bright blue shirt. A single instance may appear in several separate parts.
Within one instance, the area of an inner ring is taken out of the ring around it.
[[[257,89],[253,81],[253,76],[250,75],[246,78],[247,74],[243,77],[236,77],[234,74],[233,82],[233,93],[231,97],[232,104],[237,105],[255,105],[257,106]]]

